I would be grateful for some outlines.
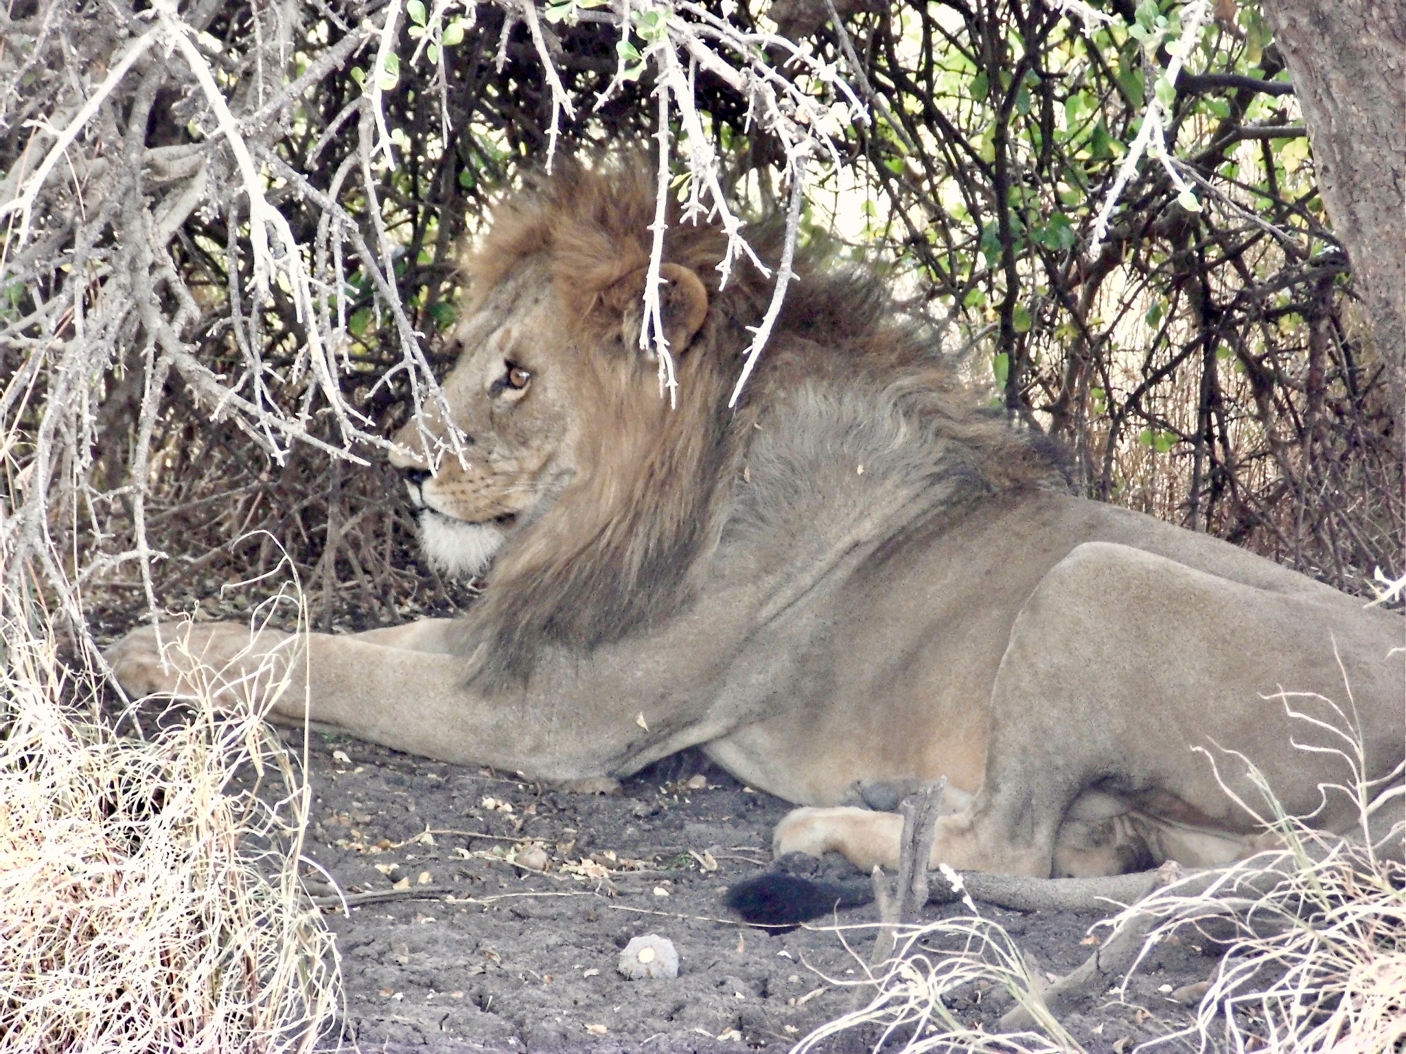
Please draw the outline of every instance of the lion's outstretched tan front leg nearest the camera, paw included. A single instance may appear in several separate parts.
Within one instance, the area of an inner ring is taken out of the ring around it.
[[[468,659],[449,649],[451,625],[250,638],[247,625],[217,624],[167,628],[160,648],[143,628],[114,645],[108,661],[136,696],[267,703],[280,724],[311,721],[406,753],[553,781],[626,772],[704,715],[678,684],[641,686],[624,649],[585,668],[569,656],[544,659],[529,683],[481,690]]]

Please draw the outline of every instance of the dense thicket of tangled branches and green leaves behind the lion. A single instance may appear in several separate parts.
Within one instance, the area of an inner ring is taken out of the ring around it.
[[[1090,495],[1347,589],[1399,573],[1400,408],[1294,86],[1253,4],[1188,34],[1198,3],[20,0],[0,14],[7,573],[121,590],[146,568],[132,596],[170,599],[281,545],[323,620],[395,618],[406,520],[339,453],[375,462],[446,368],[456,246],[553,122],[558,150],[658,131],[665,48],[742,212],[794,163],[756,86],[813,101],[776,111],[835,146],[803,236],[948,318],[980,398],[1066,443]],[[1154,105],[1167,153],[1095,247]]]

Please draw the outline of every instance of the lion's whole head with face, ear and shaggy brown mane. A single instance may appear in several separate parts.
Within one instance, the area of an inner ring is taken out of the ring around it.
[[[444,405],[426,401],[395,437],[429,559],[458,575],[494,565],[465,620],[477,676],[522,679],[543,646],[592,648],[676,610],[737,507],[754,426],[803,381],[870,391],[927,422],[914,434],[965,437],[991,486],[1047,472],[1029,443],[965,409],[931,334],[896,316],[876,281],[807,259],[742,405],[727,409],[770,282],[742,260],[721,288],[725,236],[678,215],[661,289],[671,408],[638,340],[652,174],[562,169],[495,218],[468,263]],[[763,259],[779,256],[775,223],[749,233]],[[464,436],[457,454],[446,410]]]

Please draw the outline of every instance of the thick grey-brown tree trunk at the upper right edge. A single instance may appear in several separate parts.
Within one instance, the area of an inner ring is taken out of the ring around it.
[[[1264,0],[1376,346],[1406,389],[1406,7]]]

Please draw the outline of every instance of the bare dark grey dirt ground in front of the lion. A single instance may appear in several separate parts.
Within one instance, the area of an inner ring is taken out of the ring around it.
[[[337,935],[340,1039],[364,1051],[785,1048],[855,1003],[876,909],[779,936],[730,918],[727,885],[770,864],[770,828],[789,807],[700,753],[610,797],[314,735],[309,777],[307,885]],[[1049,974],[1091,951],[1081,940],[1097,916],[977,906]],[[678,978],[617,972],[624,944],[647,933],[673,943]],[[1167,994],[1209,977],[1216,951],[1160,946],[1126,1001],[1090,1001],[1064,1024],[1085,1050],[1118,1054],[1174,1032],[1191,1010]],[[953,1006],[987,1030],[1008,1009],[995,989]]]

